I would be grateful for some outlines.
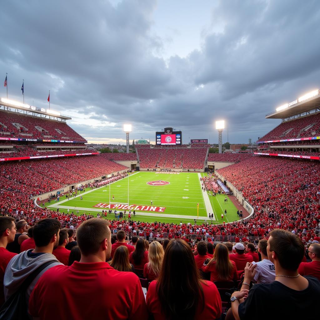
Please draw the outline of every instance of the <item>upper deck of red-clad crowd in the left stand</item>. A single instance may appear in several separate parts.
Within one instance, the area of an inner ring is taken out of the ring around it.
[[[4,135],[5,137],[32,139],[46,139],[46,137],[52,137],[52,139],[58,140],[85,141],[83,137],[71,129],[65,122],[26,116],[3,110],[0,112],[0,122],[5,126],[0,124],[0,135],[2,132],[10,133],[10,135]],[[36,127],[38,127],[40,131]]]

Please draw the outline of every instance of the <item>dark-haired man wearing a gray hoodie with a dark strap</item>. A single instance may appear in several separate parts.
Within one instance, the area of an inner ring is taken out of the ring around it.
[[[61,264],[52,254],[52,250],[56,248],[59,243],[59,231],[60,222],[56,219],[42,219],[34,226],[33,237],[36,248],[34,250],[29,249],[27,251],[23,251],[14,256],[5,270],[5,300],[20,288],[20,285],[30,274],[33,273],[33,271],[48,261],[52,261],[52,264],[44,268],[29,285],[27,289],[27,297],[29,299],[35,284],[44,272]]]

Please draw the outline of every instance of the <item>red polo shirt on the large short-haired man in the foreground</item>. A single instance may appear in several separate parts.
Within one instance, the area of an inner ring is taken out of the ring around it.
[[[50,268],[31,293],[29,312],[46,320],[148,318],[138,276],[107,262],[75,261],[70,267]]]

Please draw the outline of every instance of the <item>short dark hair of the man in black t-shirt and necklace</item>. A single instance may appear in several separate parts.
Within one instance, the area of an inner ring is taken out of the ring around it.
[[[290,231],[274,229],[269,233],[269,250],[276,252],[282,268],[295,271],[304,256],[301,239]]]

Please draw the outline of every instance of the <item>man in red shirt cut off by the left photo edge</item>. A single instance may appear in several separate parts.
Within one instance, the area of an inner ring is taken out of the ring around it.
[[[11,258],[17,254],[8,251],[6,246],[14,240],[15,234],[16,226],[14,218],[0,217],[0,306],[4,304],[4,272]]]

